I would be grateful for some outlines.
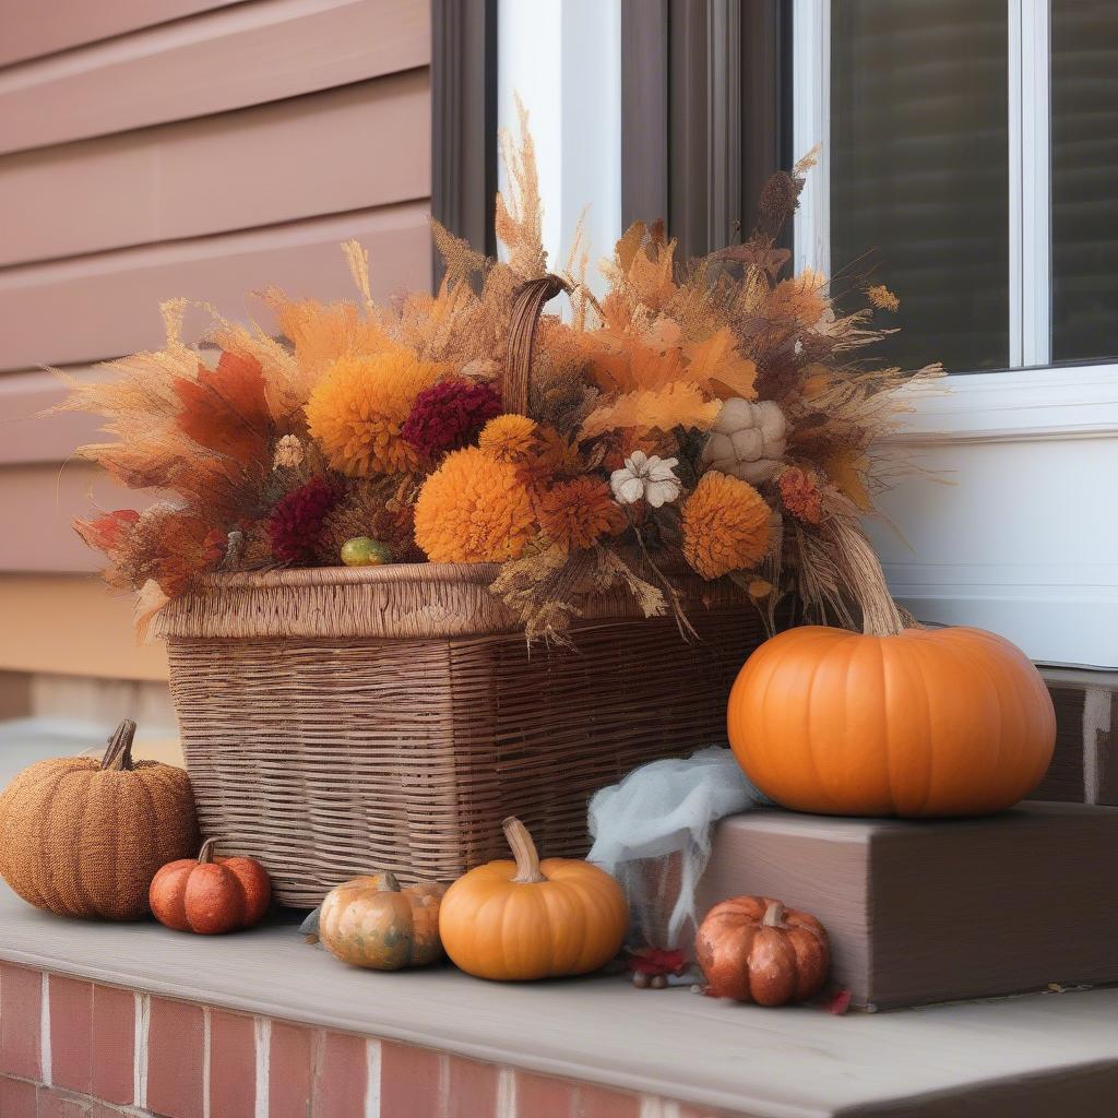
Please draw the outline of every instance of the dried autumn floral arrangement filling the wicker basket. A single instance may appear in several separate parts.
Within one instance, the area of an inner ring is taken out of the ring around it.
[[[173,302],[163,349],[74,385],[65,406],[104,416],[115,439],[80,453],[163,496],[76,522],[107,581],[150,616],[215,571],[492,562],[530,638],[566,639],[588,597],[617,587],[685,631],[680,586],[695,576],[732,580],[770,627],[786,599],[850,625],[872,598],[860,522],[889,483],[873,448],[900,410],[893,389],[940,370],[856,360],[889,332],[885,287],[840,313],[823,276],[781,277],[811,158],[769,181],[743,244],[681,264],[662,226],[632,226],[599,299],[578,238],[548,278],[523,113],[502,153],[505,259],[436,224],[437,294],[380,305],[350,243],[359,300],[269,290],[280,337],[207,307],[197,347]],[[510,392],[525,285],[537,305],[566,288],[571,311],[540,320]]]

